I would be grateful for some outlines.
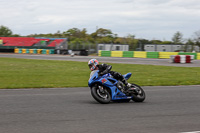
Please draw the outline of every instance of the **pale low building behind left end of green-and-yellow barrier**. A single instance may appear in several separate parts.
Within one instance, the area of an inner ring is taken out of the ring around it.
[[[128,44],[98,44],[97,50],[104,51],[129,51]]]

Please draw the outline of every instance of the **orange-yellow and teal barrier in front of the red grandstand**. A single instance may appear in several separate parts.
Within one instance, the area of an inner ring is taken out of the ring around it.
[[[18,54],[54,54],[54,49],[21,49],[16,48],[14,53]]]

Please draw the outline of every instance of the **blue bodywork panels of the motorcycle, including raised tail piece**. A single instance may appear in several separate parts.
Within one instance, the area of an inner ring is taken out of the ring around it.
[[[122,100],[122,99],[132,99],[133,96],[126,96],[123,91],[121,91],[118,87],[118,80],[114,79],[110,73],[105,74],[103,76],[98,76],[99,70],[94,70],[90,74],[90,79],[88,81],[88,86],[92,88],[94,85],[98,84],[105,88],[109,88],[111,92],[111,100]],[[127,73],[124,76],[126,80],[131,77],[131,73]]]

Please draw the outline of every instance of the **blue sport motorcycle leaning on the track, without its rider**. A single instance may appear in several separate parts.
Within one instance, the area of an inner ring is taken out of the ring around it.
[[[110,73],[99,76],[99,70],[90,73],[88,86],[91,89],[92,97],[99,103],[107,104],[113,102],[143,102],[145,100],[144,90],[136,84],[131,84],[126,88],[120,80],[114,79]],[[131,77],[132,73],[124,76],[126,80]]]

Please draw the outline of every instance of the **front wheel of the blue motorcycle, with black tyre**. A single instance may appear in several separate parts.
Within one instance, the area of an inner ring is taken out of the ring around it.
[[[111,101],[111,95],[103,86],[95,85],[91,88],[92,97],[99,103],[108,104]]]

